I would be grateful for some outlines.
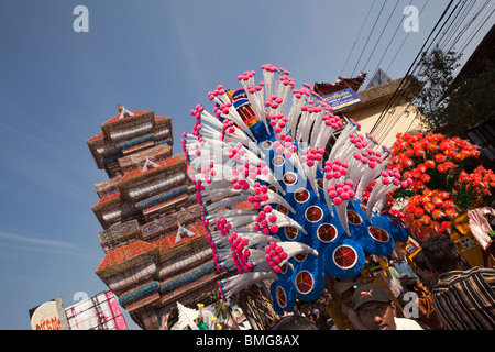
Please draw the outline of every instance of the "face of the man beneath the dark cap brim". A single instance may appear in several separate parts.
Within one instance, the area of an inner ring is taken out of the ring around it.
[[[367,330],[396,330],[393,302],[371,301],[361,306],[358,312]]]

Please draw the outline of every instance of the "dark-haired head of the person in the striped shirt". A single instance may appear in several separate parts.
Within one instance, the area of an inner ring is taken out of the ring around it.
[[[432,235],[421,244],[428,267],[437,275],[459,268],[455,243],[442,235]]]

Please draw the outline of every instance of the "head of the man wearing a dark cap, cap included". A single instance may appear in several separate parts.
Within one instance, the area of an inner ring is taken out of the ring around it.
[[[396,330],[396,306],[384,287],[374,284],[359,286],[352,297],[352,306],[367,330]]]

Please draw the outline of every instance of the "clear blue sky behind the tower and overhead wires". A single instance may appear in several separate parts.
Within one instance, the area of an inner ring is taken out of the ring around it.
[[[409,2],[392,12],[396,1],[387,1],[354,74],[371,78]],[[244,70],[261,74],[270,63],[297,86],[350,76],[382,3],[366,19],[367,0],[1,1],[0,329],[30,329],[28,310],[57,296],[70,306],[78,292],[107,289],[95,274],[102,229],[91,211],[94,185],[107,175],[86,141],[119,103],[172,117],[178,153],[194,125],[189,110],[209,107],[207,92],[219,84],[238,88]],[[407,72],[447,3],[427,3],[419,32],[392,62],[406,36],[397,31],[381,65],[392,64],[392,78]],[[73,30],[79,4],[89,10],[88,33]]]

